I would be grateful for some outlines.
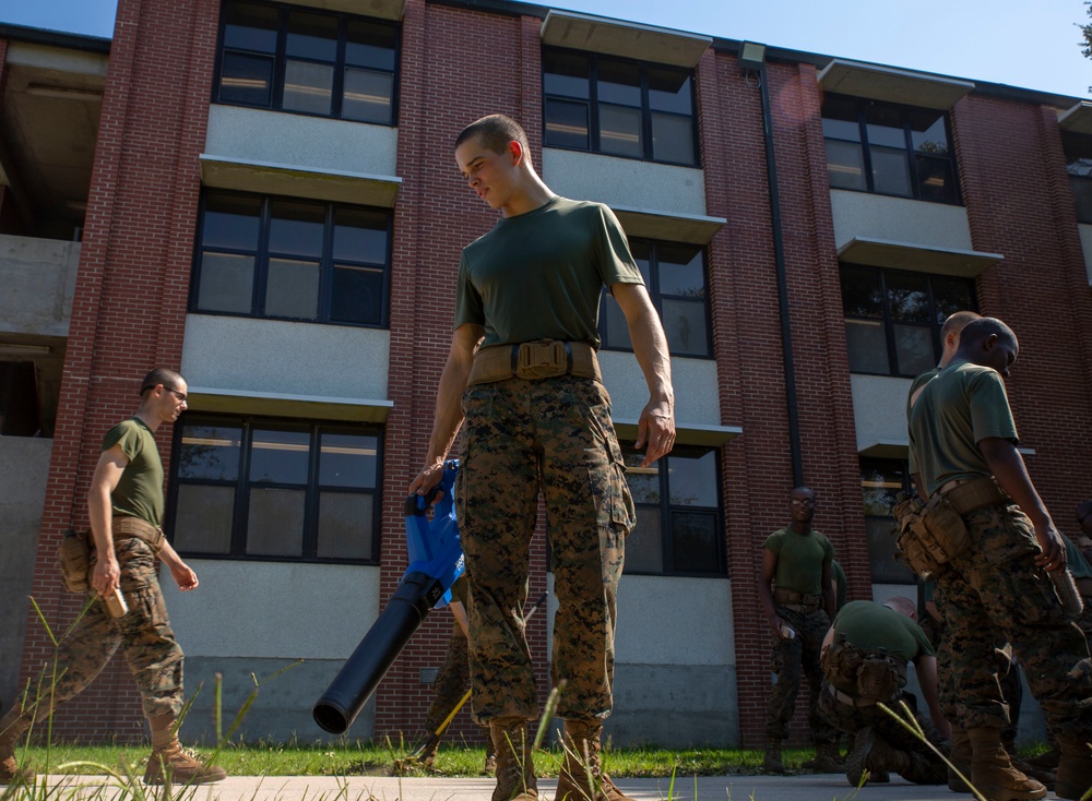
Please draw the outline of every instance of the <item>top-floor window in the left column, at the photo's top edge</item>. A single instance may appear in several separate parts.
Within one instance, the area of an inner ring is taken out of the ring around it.
[[[215,103],[395,123],[394,23],[257,3],[228,3]]]

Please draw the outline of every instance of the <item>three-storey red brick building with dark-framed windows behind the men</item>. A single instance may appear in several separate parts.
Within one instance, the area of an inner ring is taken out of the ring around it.
[[[459,252],[494,222],[451,145],[492,111],[551,189],[615,210],[672,347],[679,444],[630,473],[615,743],[761,742],[755,586],[794,483],[851,597],[915,593],[890,504],[909,379],[951,311],[1020,335],[1008,388],[1056,519],[1090,494],[1078,98],[507,0],[120,0],[109,41],[0,26],[0,87],[5,700],[51,653],[25,597],[55,630],[75,614],[52,552],[86,525],[102,435],[167,364],[190,397],[161,432],[167,530],[201,577],[165,586],[205,683],[187,730],[212,731],[216,673],[230,714],[302,659],[242,731],[322,736],[311,704],[405,569]],[[612,303],[601,360],[631,442],[646,393]],[[532,561],[536,598],[545,537]],[[354,736],[417,733],[448,631],[426,622]],[[121,659],[55,721],[140,731]],[[455,731],[476,737],[465,712]]]

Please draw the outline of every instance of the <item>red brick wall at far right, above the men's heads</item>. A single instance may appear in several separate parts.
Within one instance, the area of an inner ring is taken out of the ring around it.
[[[1020,356],[1006,381],[1032,480],[1063,530],[1092,497],[1092,302],[1053,108],[969,96],[953,113],[975,250],[1005,261],[978,279],[985,314]]]

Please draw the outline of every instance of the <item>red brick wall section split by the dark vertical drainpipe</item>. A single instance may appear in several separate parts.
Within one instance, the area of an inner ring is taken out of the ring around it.
[[[853,597],[870,597],[860,478],[815,69],[768,65],[804,481]],[[740,737],[763,740],[770,629],[756,585],[762,542],[788,519],[793,485],[784,344],[758,74],[707,53],[699,68],[721,419],[743,428],[723,454]],[[806,695],[793,740],[806,736]]]

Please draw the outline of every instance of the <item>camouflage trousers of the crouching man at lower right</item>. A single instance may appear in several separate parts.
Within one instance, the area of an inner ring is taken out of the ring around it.
[[[914,719],[922,727],[922,731],[925,732],[926,739],[940,753],[948,756],[951,753],[951,743],[937,730],[927,716],[917,710],[917,698],[910,693],[902,692],[898,698],[887,705],[900,717],[905,717],[906,712],[900,702],[904,703],[913,714]],[[827,692],[824,682],[823,692],[819,694],[819,714],[830,726],[847,734],[855,734],[866,726],[870,726],[876,736],[883,738],[891,748],[905,751],[910,756],[910,768],[899,775],[906,781],[913,781],[917,785],[942,785],[948,781],[948,765],[945,764],[945,761],[875,704],[871,706],[843,704]]]

